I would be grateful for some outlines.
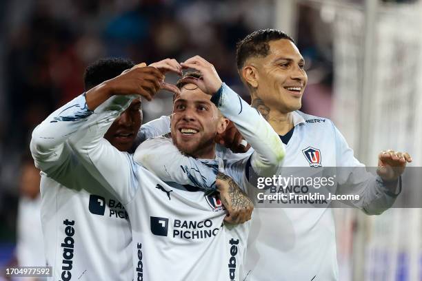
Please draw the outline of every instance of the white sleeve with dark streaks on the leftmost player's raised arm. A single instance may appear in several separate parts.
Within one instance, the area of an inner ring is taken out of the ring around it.
[[[66,141],[93,112],[88,110],[85,95],[77,96],[54,111],[32,132],[30,150],[35,166],[50,173],[61,168],[71,156]]]

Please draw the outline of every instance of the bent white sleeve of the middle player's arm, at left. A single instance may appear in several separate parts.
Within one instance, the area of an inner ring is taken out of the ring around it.
[[[130,105],[134,96],[112,96],[88,118],[69,140],[81,163],[103,187],[123,204],[132,200],[139,187],[137,168],[132,156],[119,152],[105,138],[114,120]]]

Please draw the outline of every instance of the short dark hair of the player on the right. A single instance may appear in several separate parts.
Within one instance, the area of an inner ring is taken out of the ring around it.
[[[240,70],[245,61],[251,56],[265,57],[270,51],[270,41],[287,39],[294,43],[292,37],[281,30],[265,29],[257,30],[249,34],[243,40],[236,44],[236,63]]]

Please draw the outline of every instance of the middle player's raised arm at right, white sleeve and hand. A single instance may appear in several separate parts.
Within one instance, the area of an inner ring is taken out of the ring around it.
[[[230,119],[239,129],[254,149],[251,166],[255,172],[261,176],[276,173],[283,161],[285,150],[279,135],[271,125],[228,85],[222,83],[214,66],[201,56],[194,56],[181,65],[201,72],[201,79],[187,77],[185,82],[193,83],[206,94],[212,95],[211,101],[223,116]]]

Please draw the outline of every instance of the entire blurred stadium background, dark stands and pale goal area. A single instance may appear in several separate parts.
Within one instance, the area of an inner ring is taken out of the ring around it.
[[[332,118],[366,165],[389,148],[422,164],[420,0],[15,0],[1,1],[0,14],[0,268],[17,258],[36,265],[42,251],[28,246],[39,247],[30,133],[83,92],[84,68],[105,56],[199,54],[248,101],[235,43],[260,28],[285,30],[307,62],[304,112]],[[161,93],[144,103],[144,121],[170,111]],[[334,213],[341,280],[422,280],[421,209]]]

